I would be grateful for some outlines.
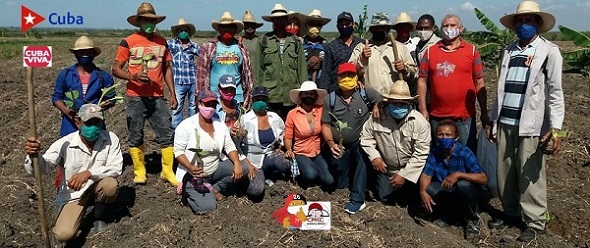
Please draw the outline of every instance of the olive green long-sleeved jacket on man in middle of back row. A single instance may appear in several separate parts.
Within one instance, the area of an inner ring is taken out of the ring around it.
[[[307,60],[303,45],[293,36],[285,38],[283,53],[274,32],[264,34],[258,39],[257,55],[253,61],[254,86],[264,86],[268,90],[269,102],[295,105],[289,99],[289,91],[297,89],[307,80]]]

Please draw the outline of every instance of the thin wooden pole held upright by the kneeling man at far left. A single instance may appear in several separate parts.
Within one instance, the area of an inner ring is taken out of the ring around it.
[[[37,122],[35,121],[35,88],[33,88],[33,68],[27,67],[27,89],[29,96],[29,125],[30,137],[37,139]],[[41,235],[43,246],[51,247],[49,242],[49,228],[47,227],[47,217],[45,216],[45,198],[43,197],[43,185],[41,183],[41,170],[39,169],[39,155],[31,155],[33,169],[35,170],[35,184],[37,186],[37,210],[39,211],[39,220],[41,221]]]

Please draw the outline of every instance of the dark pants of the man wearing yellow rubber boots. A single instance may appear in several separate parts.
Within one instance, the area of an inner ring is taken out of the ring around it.
[[[145,119],[155,131],[157,142],[161,147],[174,144],[174,131],[170,123],[170,109],[161,97],[127,96],[127,129],[129,129],[129,147],[143,145],[143,128]]]

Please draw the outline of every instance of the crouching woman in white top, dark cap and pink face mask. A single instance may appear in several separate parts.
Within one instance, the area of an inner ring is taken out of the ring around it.
[[[198,101],[199,114],[176,127],[174,154],[179,163],[176,179],[182,182],[183,203],[193,213],[204,214],[214,211],[217,201],[232,192],[248,173],[248,167],[240,163],[229,129],[213,118],[217,95],[204,90],[199,93]]]

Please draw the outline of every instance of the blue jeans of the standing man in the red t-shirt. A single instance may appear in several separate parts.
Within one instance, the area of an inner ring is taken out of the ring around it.
[[[444,119],[452,119],[457,127],[459,128],[459,142],[467,146],[474,155],[477,153],[477,127],[473,118],[467,118],[465,120],[455,118],[439,118],[430,116],[430,128],[432,131],[432,144],[436,145],[436,128],[438,123]]]

